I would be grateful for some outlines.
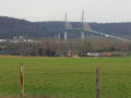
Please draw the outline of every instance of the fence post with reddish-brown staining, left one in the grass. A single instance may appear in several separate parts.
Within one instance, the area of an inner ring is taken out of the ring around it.
[[[24,96],[24,71],[23,71],[23,63],[20,65],[20,74],[21,74],[21,97]]]

